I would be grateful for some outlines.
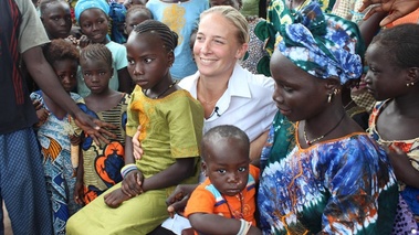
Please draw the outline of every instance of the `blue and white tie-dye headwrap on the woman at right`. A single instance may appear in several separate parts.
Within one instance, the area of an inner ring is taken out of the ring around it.
[[[356,24],[324,14],[316,1],[295,13],[294,23],[280,28],[281,53],[318,78],[335,76],[341,84],[359,78],[365,47]]]

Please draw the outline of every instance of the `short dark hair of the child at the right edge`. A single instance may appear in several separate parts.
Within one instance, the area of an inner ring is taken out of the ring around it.
[[[387,56],[401,67],[419,66],[419,24],[400,24],[383,30],[374,39],[388,49]]]

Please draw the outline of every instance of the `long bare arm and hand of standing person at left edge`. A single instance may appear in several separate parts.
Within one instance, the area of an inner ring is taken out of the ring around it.
[[[75,105],[74,100],[65,93],[60,84],[55,72],[46,62],[40,46],[29,49],[22,54],[22,56],[29,73],[41,87],[42,92],[51,97],[56,104],[60,104],[64,110],[75,118],[77,126],[90,135],[95,142],[98,143],[98,140],[101,139],[108,143],[109,141],[103,135],[116,138],[114,133],[105,129],[115,128],[115,126],[87,116]]]

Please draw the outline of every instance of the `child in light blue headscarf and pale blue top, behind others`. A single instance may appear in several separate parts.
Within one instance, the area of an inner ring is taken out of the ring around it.
[[[106,45],[112,52],[113,75],[109,87],[115,90],[130,93],[133,83],[127,71],[126,49],[115,43],[108,38],[108,12],[109,4],[105,0],[78,0],[75,6],[75,19],[84,35],[80,39],[80,46],[99,43]],[[88,95],[90,89],[83,81],[83,76],[77,76],[77,92],[81,96]]]

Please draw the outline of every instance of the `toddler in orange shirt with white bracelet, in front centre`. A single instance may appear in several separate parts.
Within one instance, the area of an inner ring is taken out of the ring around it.
[[[261,234],[256,228],[255,184],[259,169],[249,164],[249,138],[238,127],[210,129],[201,141],[206,181],[185,209],[192,228],[202,234]]]

